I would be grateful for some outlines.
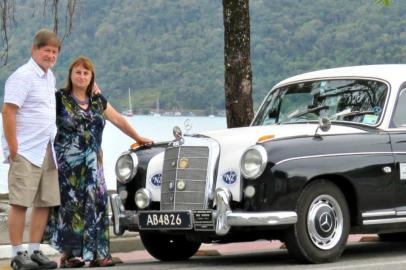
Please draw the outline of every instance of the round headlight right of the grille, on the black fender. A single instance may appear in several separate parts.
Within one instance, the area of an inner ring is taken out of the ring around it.
[[[267,154],[264,147],[254,145],[248,148],[241,157],[241,174],[246,179],[256,179],[265,170]]]

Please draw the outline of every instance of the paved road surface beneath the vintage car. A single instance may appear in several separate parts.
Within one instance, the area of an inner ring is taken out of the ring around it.
[[[262,244],[261,244],[262,245]],[[194,256],[185,262],[159,262],[143,257],[143,251],[132,253],[133,259],[126,260],[115,269],[137,270],[203,270],[203,269],[355,269],[382,270],[406,269],[406,245],[404,243],[353,242],[347,245],[342,258],[334,263],[319,265],[298,264],[289,257],[286,249],[250,250]]]

